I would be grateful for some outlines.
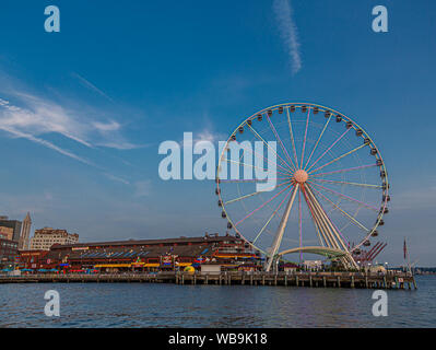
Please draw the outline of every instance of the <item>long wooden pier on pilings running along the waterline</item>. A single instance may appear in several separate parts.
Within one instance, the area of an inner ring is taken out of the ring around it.
[[[221,272],[221,273],[116,273],[116,275],[27,275],[0,276],[0,283],[176,283],[217,285],[283,285],[307,288],[360,288],[360,289],[417,289],[410,273],[388,272]]]

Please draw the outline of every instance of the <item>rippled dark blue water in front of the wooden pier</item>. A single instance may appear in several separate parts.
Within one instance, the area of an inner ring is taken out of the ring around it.
[[[436,276],[419,290],[387,291],[375,317],[374,290],[149,283],[0,284],[0,327],[436,327]],[[47,290],[60,317],[44,314]]]

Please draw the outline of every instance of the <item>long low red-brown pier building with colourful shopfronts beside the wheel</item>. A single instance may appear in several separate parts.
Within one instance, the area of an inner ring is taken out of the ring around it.
[[[21,262],[26,268],[27,252]],[[119,271],[174,271],[201,265],[220,265],[220,269],[260,269],[260,255],[247,243],[232,235],[205,235],[165,240],[130,240],[57,244],[44,255],[37,268],[80,271],[96,269]]]

